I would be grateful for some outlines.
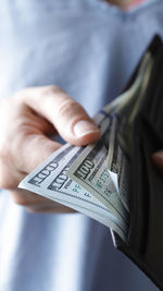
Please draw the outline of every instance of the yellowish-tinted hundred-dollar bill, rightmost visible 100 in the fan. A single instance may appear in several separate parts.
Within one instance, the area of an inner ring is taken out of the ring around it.
[[[108,148],[112,116],[108,116],[101,126],[101,137],[87,146],[72,163],[67,175],[96,196],[123,225],[129,225],[129,215],[122,204],[118,193],[108,171]]]

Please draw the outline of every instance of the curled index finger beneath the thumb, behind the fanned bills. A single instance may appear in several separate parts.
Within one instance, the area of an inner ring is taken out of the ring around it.
[[[1,155],[0,187],[16,187],[27,173],[61,146],[41,133],[17,135],[11,143],[10,151],[5,149],[3,156]]]

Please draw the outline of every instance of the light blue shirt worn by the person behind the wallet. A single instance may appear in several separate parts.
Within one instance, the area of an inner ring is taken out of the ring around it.
[[[102,0],[1,0],[0,97],[54,84],[92,116],[121,93],[155,33],[162,0],[130,12]],[[32,215],[0,193],[0,291],[108,290],[156,288],[108,228],[79,214]]]

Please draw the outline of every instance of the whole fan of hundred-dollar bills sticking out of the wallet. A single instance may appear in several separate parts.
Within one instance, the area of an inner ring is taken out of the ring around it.
[[[68,206],[115,231],[129,229],[130,129],[148,86],[153,60],[143,56],[131,86],[95,117],[101,136],[95,144],[65,144],[28,174],[21,189]]]

